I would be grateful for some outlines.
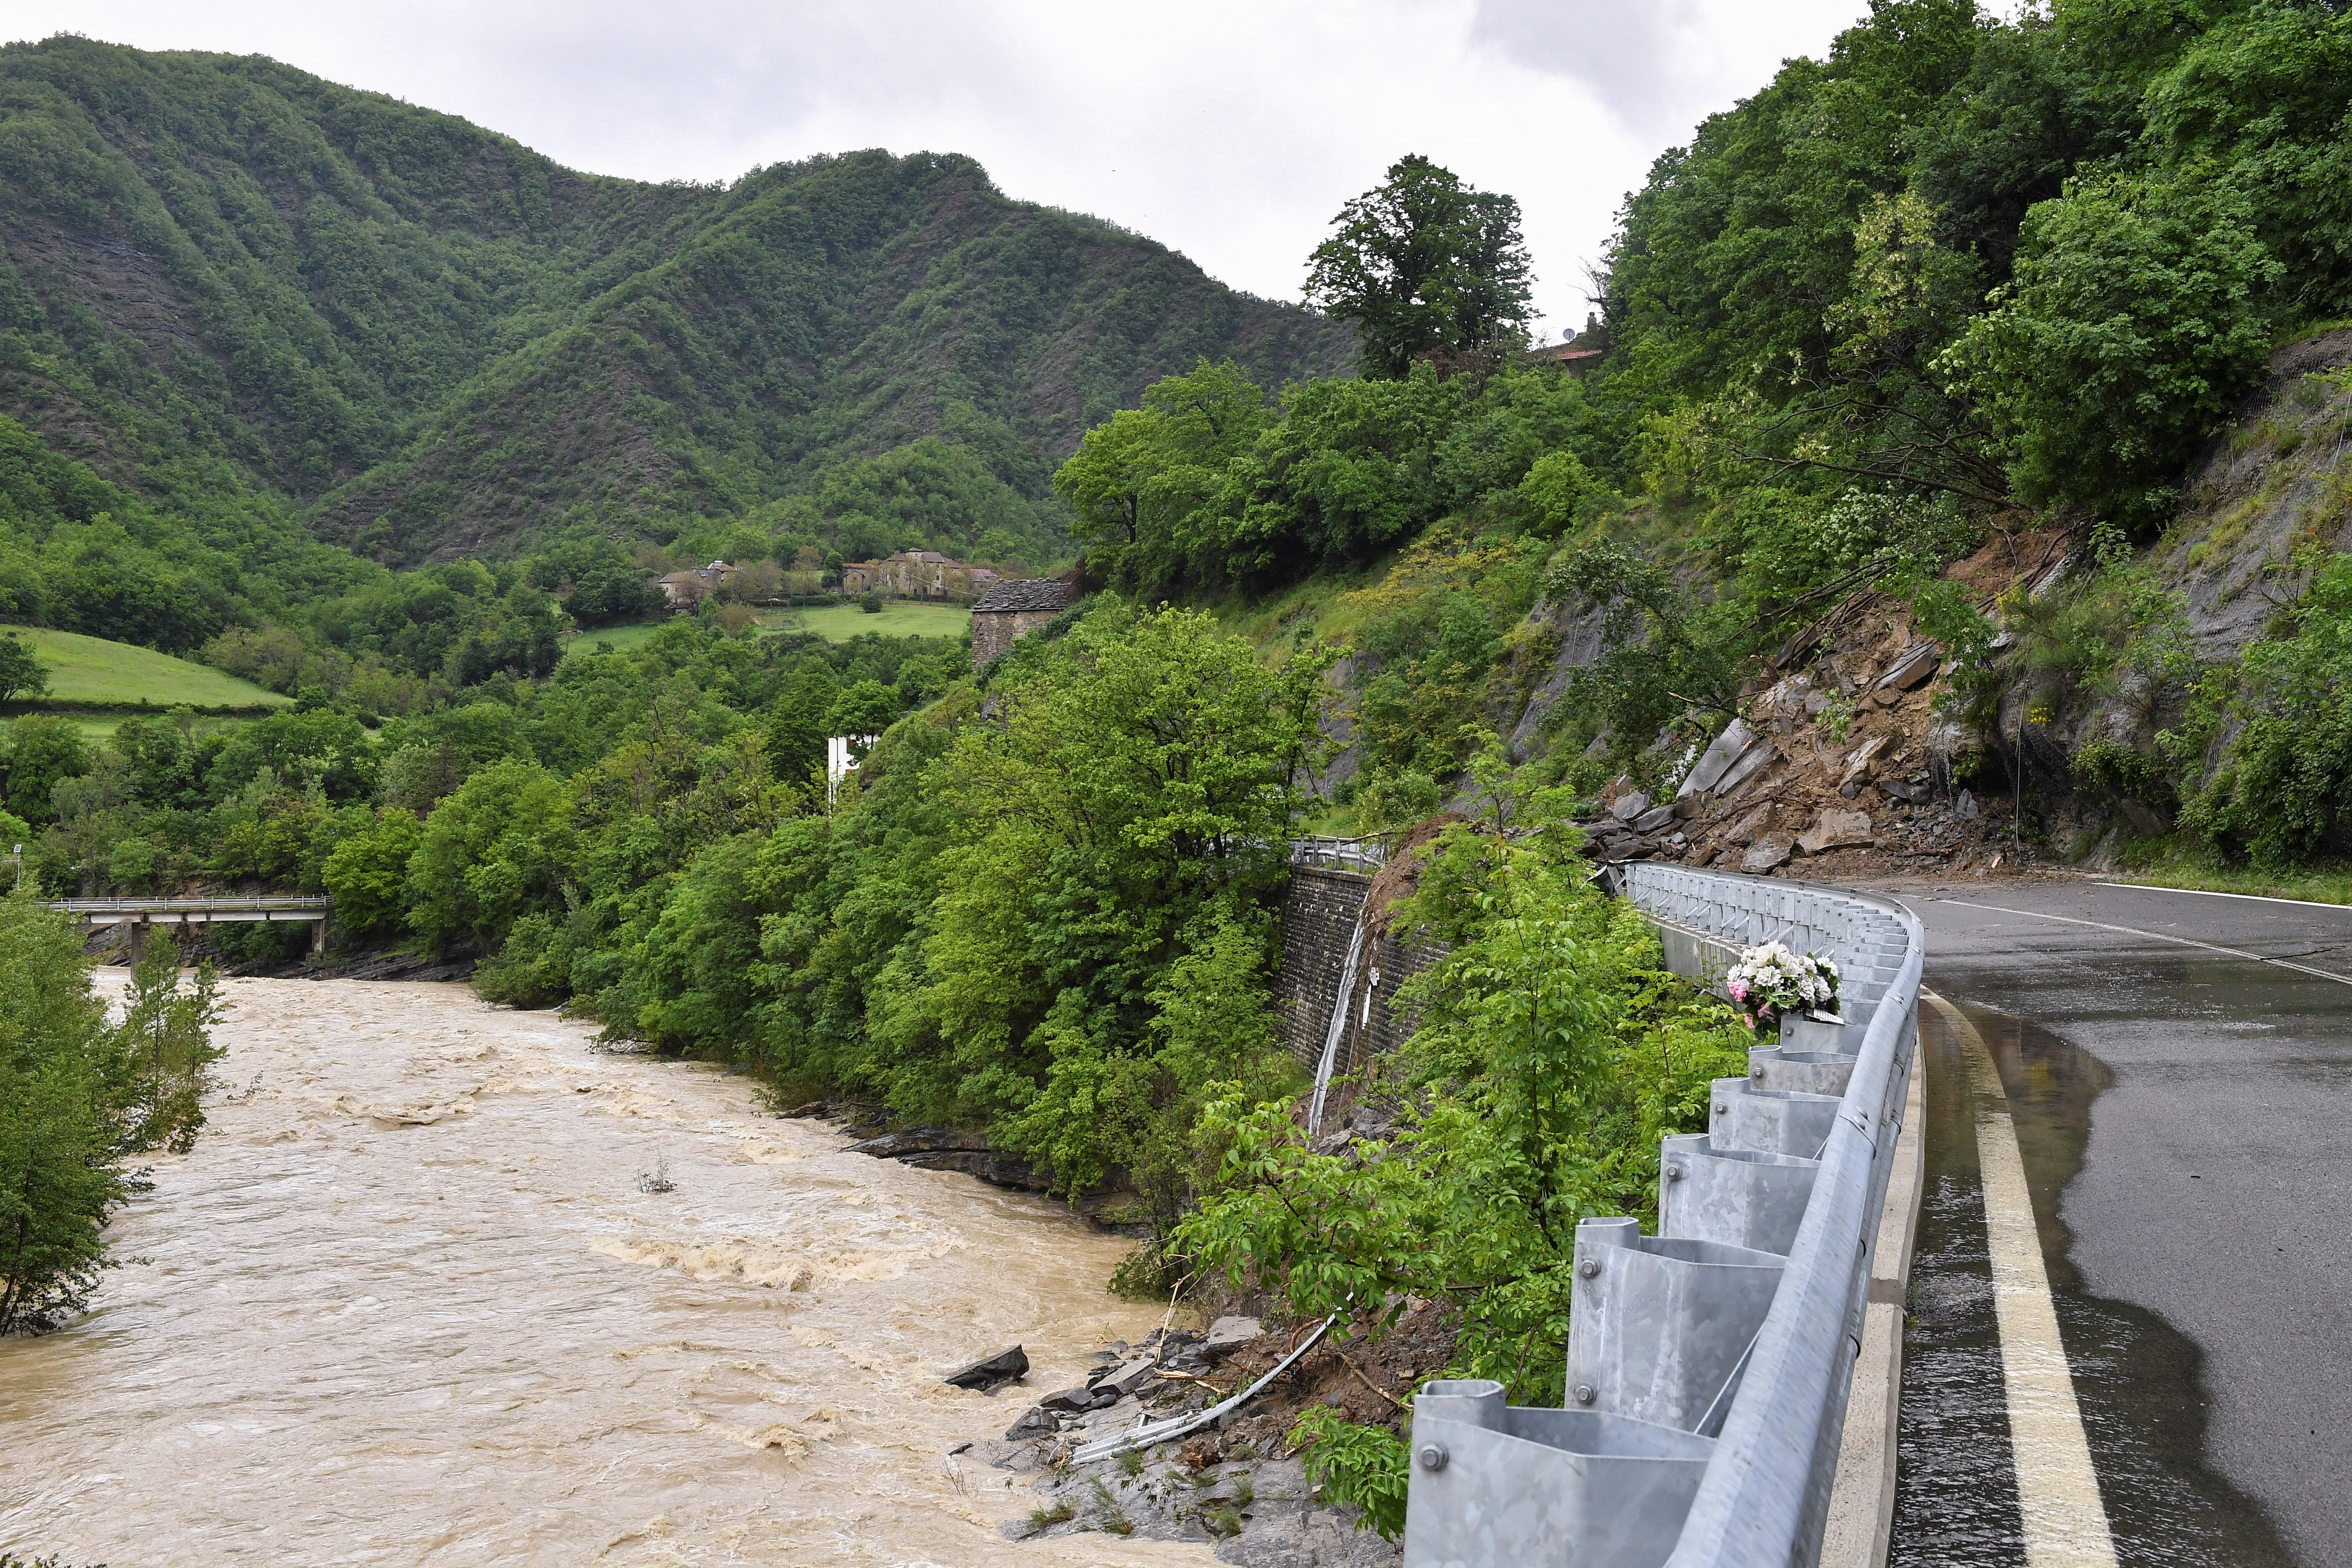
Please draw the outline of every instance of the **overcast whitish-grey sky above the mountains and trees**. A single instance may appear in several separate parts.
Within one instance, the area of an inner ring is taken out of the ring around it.
[[[1865,0],[0,0],[0,38],[268,54],[576,169],[729,181],[882,146],[1298,299],[1341,202],[1428,153],[1526,212],[1552,339],[1625,190]]]

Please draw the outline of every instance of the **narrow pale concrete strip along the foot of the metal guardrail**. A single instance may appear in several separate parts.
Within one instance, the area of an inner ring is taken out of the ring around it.
[[[1922,1001],[1947,1011],[1933,992]],[[1870,1248],[1870,1302],[1863,1307],[1863,1349],[1846,1389],[1846,1425],[1837,1439],[1830,1519],[1820,1537],[1820,1568],[1879,1568],[1896,1523],[1896,1439],[1903,1415],[1903,1314],[1910,1300],[1912,1241],[1919,1234],[1919,1194],[1926,1187],[1922,1128],[1924,1084],[1919,1037],[1912,1032],[1912,1081],[1903,1098],[1903,1131],[1886,1173],[1877,1246]]]

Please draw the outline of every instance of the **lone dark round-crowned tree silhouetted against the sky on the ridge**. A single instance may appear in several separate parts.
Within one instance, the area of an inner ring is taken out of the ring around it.
[[[1517,200],[1414,153],[1334,226],[1308,259],[1305,296],[1355,322],[1369,371],[1397,378],[1423,360],[1451,369],[1526,341],[1534,266]]]

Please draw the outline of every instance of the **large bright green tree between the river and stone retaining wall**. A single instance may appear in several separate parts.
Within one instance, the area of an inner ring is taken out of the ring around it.
[[[1023,649],[997,717],[941,762],[960,842],[920,971],[875,1006],[894,1105],[990,1121],[1073,1192],[1134,1161],[1174,1218],[1200,1074],[1268,1039],[1258,910],[1322,745],[1324,663],[1268,668],[1176,609],[1108,607]]]

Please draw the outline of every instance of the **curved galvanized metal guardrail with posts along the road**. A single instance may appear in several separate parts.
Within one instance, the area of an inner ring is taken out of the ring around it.
[[[1832,957],[1844,1023],[1790,1020],[1665,1140],[1658,1232],[1576,1227],[1562,1408],[1498,1382],[1414,1403],[1406,1568],[1809,1568],[1820,1556],[1870,1248],[1910,1091],[1919,917],[1898,903],[1616,867],[1668,964],[1712,983],[1743,947]]]

